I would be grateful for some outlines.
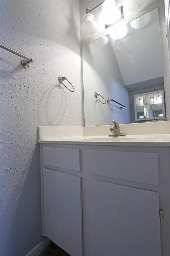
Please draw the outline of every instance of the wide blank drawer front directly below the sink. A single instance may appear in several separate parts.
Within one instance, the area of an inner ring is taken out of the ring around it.
[[[158,185],[158,154],[87,150],[86,169],[91,174]]]

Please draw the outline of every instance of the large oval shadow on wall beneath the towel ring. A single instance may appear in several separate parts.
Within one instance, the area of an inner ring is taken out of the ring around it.
[[[57,99],[59,99],[59,101]],[[53,111],[54,106],[55,112]],[[66,108],[66,96],[64,88],[61,87],[59,83],[56,85],[50,85],[42,94],[37,108],[39,123],[43,123],[44,120],[41,112],[43,108],[45,108],[45,117],[48,125],[58,126],[62,122]]]

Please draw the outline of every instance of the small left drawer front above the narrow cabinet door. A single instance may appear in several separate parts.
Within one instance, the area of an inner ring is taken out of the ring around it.
[[[43,147],[43,164],[80,171],[79,149]]]

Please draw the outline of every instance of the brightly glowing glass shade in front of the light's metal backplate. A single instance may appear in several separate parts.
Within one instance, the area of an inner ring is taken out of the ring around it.
[[[116,20],[120,19],[120,10],[118,8],[113,8],[110,10],[102,10],[99,15],[100,22],[106,25],[114,23]]]

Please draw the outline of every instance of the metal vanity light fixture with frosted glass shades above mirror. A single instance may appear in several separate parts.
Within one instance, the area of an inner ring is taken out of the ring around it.
[[[96,10],[100,6],[102,6],[102,11],[99,15],[99,19],[102,23],[105,24],[105,29],[109,28],[118,21],[123,20],[123,5],[119,8],[115,7],[115,5],[115,0],[105,0],[91,10],[87,8],[86,14],[83,16],[83,22],[80,26],[80,31],[84,35],[91,35],[97,32],[98,24],[96,21],[94,21],[94,15],[91,14],[91,12]]]

